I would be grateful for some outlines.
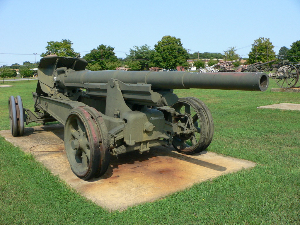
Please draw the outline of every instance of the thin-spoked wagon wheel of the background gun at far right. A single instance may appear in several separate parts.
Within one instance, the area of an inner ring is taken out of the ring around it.
[[[291,64],[283,64],[275,72],[275,81],[282,88],[292,88],[299,79],[296,67]]]

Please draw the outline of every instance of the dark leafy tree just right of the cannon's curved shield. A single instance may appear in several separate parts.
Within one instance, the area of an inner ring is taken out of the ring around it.
[[[110,70],[111,62],[118,62],[118,58],[114,52],[115,48],[101,44],[97,49],[92,49],[90,53],[87,53],[83,58],[89,61],[89,64],[98,64],[100,70]],[[118,62],[117,64],[120,64]],[[108,65],[108,67],[106,67]],[[114,68],[115,70],[116,68]]]

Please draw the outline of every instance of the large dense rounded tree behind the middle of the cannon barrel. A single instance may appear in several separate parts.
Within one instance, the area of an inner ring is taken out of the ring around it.
[[[164,36],[154,49],[151,61],[156,67],[174,69],[176,66],[190,66],[187,63],[189,54],[182,47],[180,38]]]

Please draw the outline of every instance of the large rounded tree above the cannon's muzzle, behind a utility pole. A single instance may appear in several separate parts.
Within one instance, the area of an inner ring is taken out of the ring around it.
[[[249,63],[267,62],[275,59],[274,45],[269,38],[258,38],[252,44],[249,52]]]

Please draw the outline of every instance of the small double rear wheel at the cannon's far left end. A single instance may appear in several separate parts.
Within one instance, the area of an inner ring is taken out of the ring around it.
[[[24,110],[22,99],[18,95],[16,98],[9,97],[8,113],[10,119],[10,132],[13,137],[23,136],[24,134]]]

